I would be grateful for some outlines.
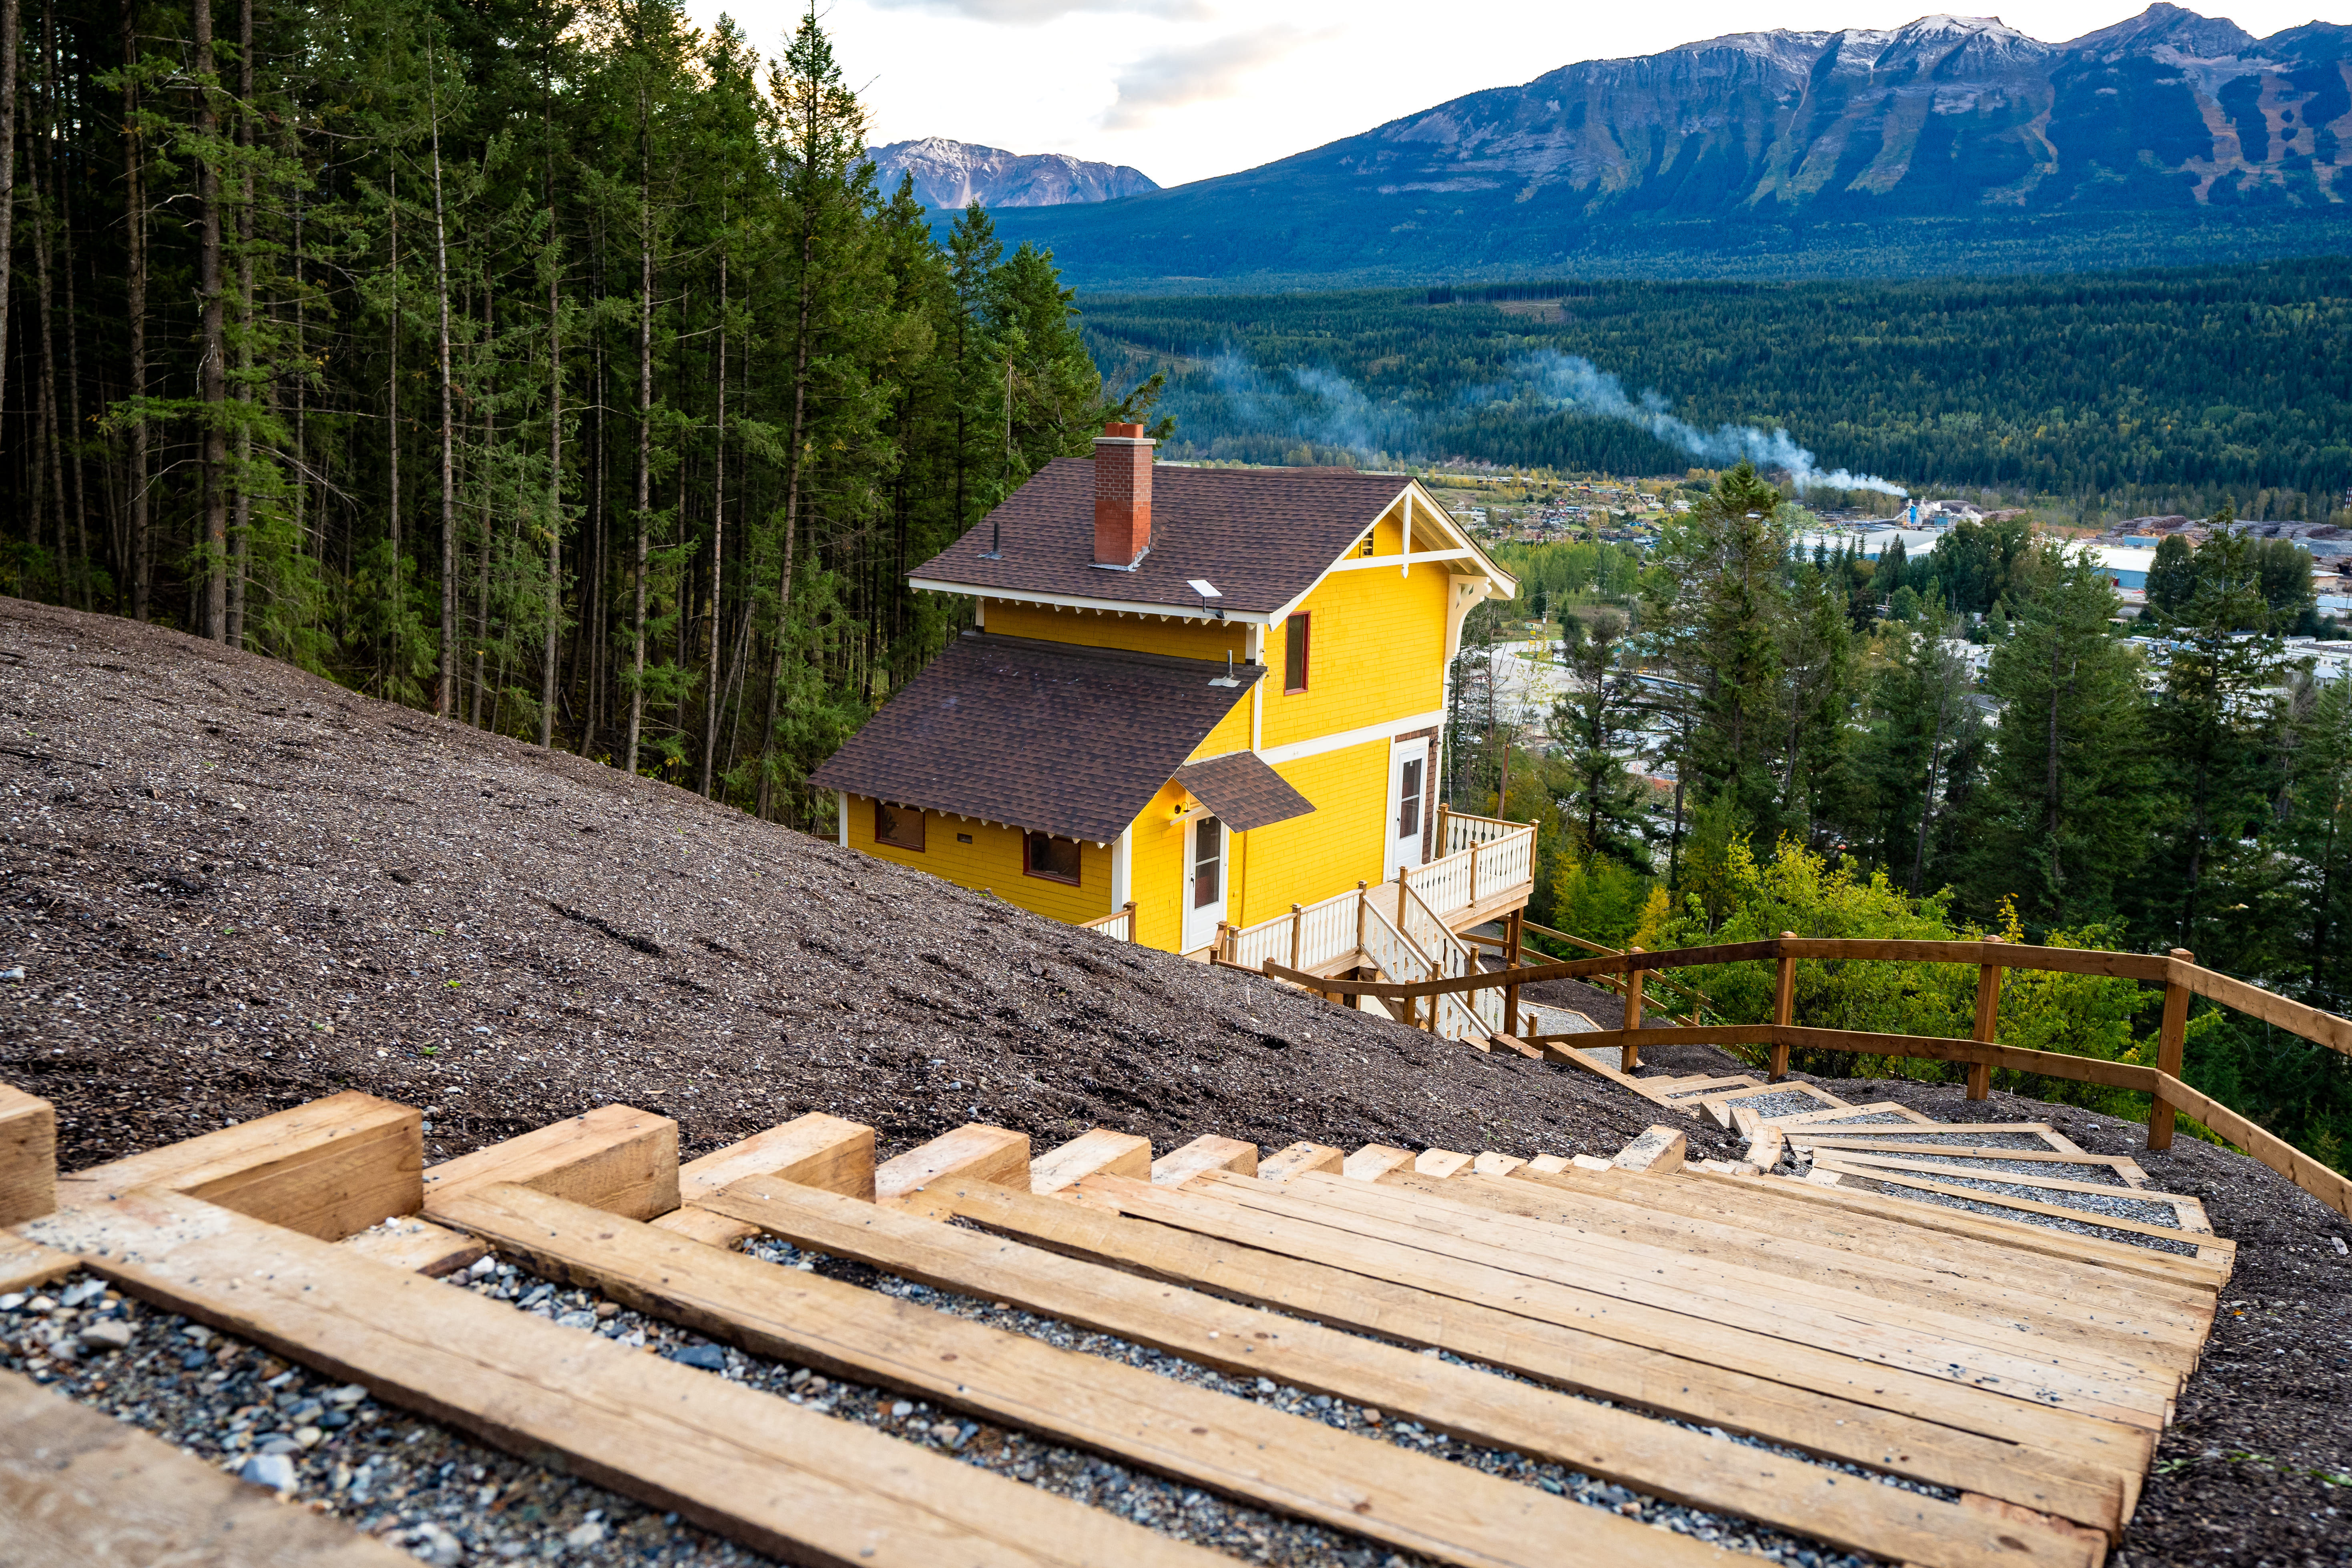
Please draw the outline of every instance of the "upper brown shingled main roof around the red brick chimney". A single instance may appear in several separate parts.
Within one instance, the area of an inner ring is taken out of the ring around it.
[[[1185,583],[1223,590],[1221,609],[1270,614],[1315,585],[1404,491],[1402,475],[1350,468],[1152,468],[1152,548],[1134,571],[1094,564],[1094,458],[1054,458],[976,529],[917,567],[915,581],[1049,592],[1120,604],[1197,607]],[[1002,559],[981,559],[997,529]]]

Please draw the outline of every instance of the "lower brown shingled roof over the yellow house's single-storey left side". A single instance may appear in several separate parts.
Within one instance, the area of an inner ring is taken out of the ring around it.
[[[1108,844],[1263,675],[964,632],[809,783]]]

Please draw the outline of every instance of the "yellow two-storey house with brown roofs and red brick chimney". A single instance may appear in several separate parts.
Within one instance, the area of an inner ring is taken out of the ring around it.
[[[1162,465],[1105,425],[910,583],[976,630],[811,778],[844,846],[1324,976],[1461,973],[1458,933],[1524,907],[1534,830],[1437,804],[1463,616],[1517,585],[1418,482]]]

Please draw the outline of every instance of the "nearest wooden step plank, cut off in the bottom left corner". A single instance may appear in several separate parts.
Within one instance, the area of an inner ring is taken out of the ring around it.
[[[416,1568],[129,1422],[0,1371],[7,1568]]]

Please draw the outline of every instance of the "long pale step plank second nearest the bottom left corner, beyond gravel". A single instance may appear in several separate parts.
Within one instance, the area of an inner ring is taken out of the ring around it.
[[[212,1204],[134,1190],[33,1220],[28,1229],[80,1253],[141,1300],[360,1382],[388,1403],[527,1460],[555,1458],[597,1486],[675,1509],[786,1561],[858,1568],[1225,1561],[870,1427],[557,1328]],[[666,1241],[750,1262],[677,1237]]]

